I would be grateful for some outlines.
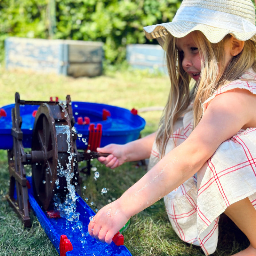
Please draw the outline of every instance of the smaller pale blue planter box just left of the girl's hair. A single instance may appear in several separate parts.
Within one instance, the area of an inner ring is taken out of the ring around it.
[[[133,68],[149,69],[168,74],[164,50],[157,44],[128,44],[126,46],[126,60]]]

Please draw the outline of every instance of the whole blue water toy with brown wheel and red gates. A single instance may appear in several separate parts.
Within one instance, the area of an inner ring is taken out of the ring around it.
[[[137,139],[145,121],[134,110],[100,107],[72,103],[69,95],[63,102],[20,100],[16,92],[15,104],[1,108],[1,148],[8,149],[10,173],[6,197],[27,227],[32,208],[60,256],[131,255],[119,233],[110,245],[89,236],[95,213],[80,196],[78,162],[98,157],[99,146]],[[31,177],[24,165],[31,165]]]

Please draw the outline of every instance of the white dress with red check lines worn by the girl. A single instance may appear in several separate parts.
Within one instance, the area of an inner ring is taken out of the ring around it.
[[[206,110],[217,95],[235,88],[246,89],[256,94],[256,74],[248,70],[241,77],[219,88],[203,103]],[[172,150],[174,141],[180,145],[193,130],[192,106],[175,123],[165,154]],[[255,111],[256,115],[256,111]],[[217,131],[216,131],[217,132]],[[159,151],[154,143],[148,169],[159,161]],[[225,209],[241,199],[249,197],[256,208],[256,128],[240,130],[224,141],[206,164],[206,171],[197,188],[195,174],[167,196],[164,204],[177,235],[185,242],[199,245],[205,255],[216,250],[219,216]]]

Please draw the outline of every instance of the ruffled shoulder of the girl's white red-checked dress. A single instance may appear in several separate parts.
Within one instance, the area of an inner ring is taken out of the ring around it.
[[[256,95],[256,73],[254,70],[249,69],[244,74],[228,84],[221,86],[216,90],[211,97],[203,103],[203,111],[206,110],[210,102],[219,94],[232,91],[234,89],[245,89]]]

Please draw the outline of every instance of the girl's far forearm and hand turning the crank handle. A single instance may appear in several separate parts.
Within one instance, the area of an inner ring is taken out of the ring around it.
[[[110,153],[107,157],[98,157],[98,160],[107,167],[114,169],[124,162],[146,159],[150,156],[155,137],[156,132],[124,145],[109,144],[104,148],[97,148],[98,152]]]

